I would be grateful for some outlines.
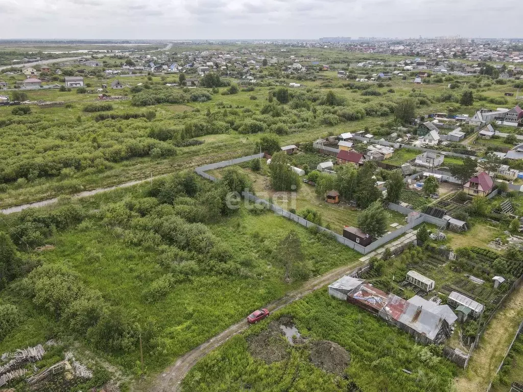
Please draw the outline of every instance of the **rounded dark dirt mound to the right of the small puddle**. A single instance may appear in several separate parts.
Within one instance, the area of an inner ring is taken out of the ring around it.
[[[330,340],[311,342],[311,362],[325,372],[342,375],[350,363],[350,354]]]

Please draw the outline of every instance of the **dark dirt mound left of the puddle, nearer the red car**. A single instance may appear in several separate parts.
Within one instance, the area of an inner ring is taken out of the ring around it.
[[[266,364],[289,358],[289,344],[282,339],[280,325],[281,322],[278,320],[271,321],[267,329],[247,338],[249,353],[254,358],[258,358]]]

